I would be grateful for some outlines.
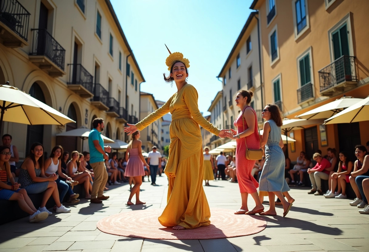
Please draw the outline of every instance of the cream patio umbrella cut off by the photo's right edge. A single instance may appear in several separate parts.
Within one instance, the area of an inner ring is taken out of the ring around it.
[[[325,120],[324,124],[352,123],[369,120],[369,96]]]

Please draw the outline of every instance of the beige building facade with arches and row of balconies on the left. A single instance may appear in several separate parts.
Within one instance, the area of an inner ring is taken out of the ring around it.
[[[20,158],[34,142],[81,151],[82,140],[57,133],[92,127],[125,140],[124,123],[138,122],[139,85],[145,81],[109,0],[3,0],[0,83],[9,81],[76,121],[65,126],[4,122]],[[133,84],[131,84],[133,83]],[[88,146],[84,144],[84,150]]]

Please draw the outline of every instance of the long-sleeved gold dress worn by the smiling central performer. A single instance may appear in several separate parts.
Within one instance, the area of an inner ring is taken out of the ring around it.
[[[164,171],[169,179],[167,205],[158,218],[165,227],[193,229],[210,225],[210,208],[202,185],[204,156],[199,125],[215,135],[220,130],[201,115],[198,96],[193,85],[185,84],[161,108],[136,124],[142,130],[166,113],[172,114]]]

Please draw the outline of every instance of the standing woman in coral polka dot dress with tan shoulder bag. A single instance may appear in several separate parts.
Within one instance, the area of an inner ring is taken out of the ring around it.
[[[236,106],[241,108],[241,112],[234,122],[234,125],[237,126],[237,131],[232,129],[234,135],[230,138],[236,139],[237,141],[236,173],[239,191],[241,192],[242,205],[234,214],[256,214],[264,211],[264,207],[256,191],[256,188],[259,187],[259,183],[251,176],[251,170],[254,168],[256,160],[246,159],[245,140],[247,147],[250,149],[259,149],[261,147],[256,112],[249,106],[252,95],[252,91],[240,90],[235,99]],[[251,194],[256,204],[252,211],[249,211],[247,206],[247,197],[249,194]]]

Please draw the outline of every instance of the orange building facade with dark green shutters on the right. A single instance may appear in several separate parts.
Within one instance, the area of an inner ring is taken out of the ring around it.
[[[259,11],[265,103],[279,105],[284,117],[344,95],[369,95],[368,1],[254,0],[250,8]],[[328,147],[353,154],[369,140],[368,127],[369,121],[294,128],[289,156],[326,154]]]

